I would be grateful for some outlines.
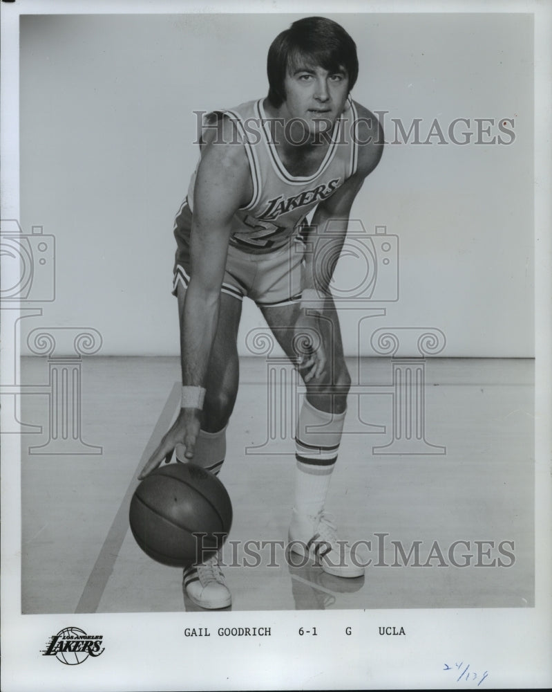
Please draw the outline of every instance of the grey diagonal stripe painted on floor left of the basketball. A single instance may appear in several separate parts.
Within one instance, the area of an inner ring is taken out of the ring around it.
[[[155,424],[155,428],[153,428],[153,432],[151,433],[148,444],[146,444],[144,453],[142,453],[140,463],[136,467],[136,473],[133,473],[131,483],[126,489],[119,510],[115,515],[115,519],[113,519],[106,540],[104,540],[104,545],[102,545],[102,549],[99,551],[96,563],[88,577],[88,581],[86,582],[79,603],[77,603],[75,612],[96,612],[99,601],[102,600],[104,590],[113,572],[113,566],[119,556],[119,551],[124,537],[126,536],[126,531],[129,530],[129,507],[131,498],[138,484],[137,472],[144,466],[155,447],[158,446],[161,437],[166,430],[168,430],[171,419],[178,406],[178,401],[180,401],[180,383],[176,382]]]

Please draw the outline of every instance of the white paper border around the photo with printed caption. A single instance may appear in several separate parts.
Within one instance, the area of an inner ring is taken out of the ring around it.
[[[19,15],[187,12],[532,12],[535,17],[535,608],[352,612],[230,612],[225,626],[270,626],[272,637],[184,641],[180,613],[21,614],[21,493],[17,435],[2,439],[2,689],[453,689],[442,664],[457,655],[493,671],[493,688],[552,685],[551,641],[551,27],[540,1],[222,2],[184,0],[16,0],[1,3],[1,208],[19,218]],[[12,358],[2,346],[2,367]],[[305,619],[332,634],[290,636]],[[213,628],[210,613],[196,626]],[[45,635],[75,624],[104,637],[92,666],[51,666]],[[379,625],[403,626],[406,641],[378,637]],[[356,632],[354,640],[345,627]],[[212,644],[211,644],[212,642]],[[221,675],[221,670],[223,674]],[[482,687],[485,686],[483,682]],[[467,686],[467,685],[466,685]]]

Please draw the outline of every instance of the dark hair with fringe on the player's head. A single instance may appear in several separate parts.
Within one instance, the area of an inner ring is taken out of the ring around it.
[[[285,76],[303,62],[332,72],[345,69],[349,89],[359,75],[356,44],[343,26],[325,17],[298,19],[268,49],[268,98],[275,108],[285,101]]]

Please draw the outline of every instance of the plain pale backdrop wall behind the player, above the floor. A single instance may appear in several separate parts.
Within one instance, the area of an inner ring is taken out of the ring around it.
[[[267,48],[298,16],[21,17],[21,226],[56,242],[56,299],[39,326],[93,327],[106,355],[178,354],[172,225],[198,157],[193,111],[265,95]],[[444,356],[532,357],[532,18],[326,16],[359,48],[353,97],[386,111],[390,143],[352,218],[399,237],[399,300],[374,303],[387,314],[370,329],[437,327]],[[392,119],[408,131],[415,118],[422,144],[395,136]],[[435,118],[441,143],[435,127],[428,137]],[[470,143],[450,140],[455,118]],[[476,118],[493,120],[488,134]],[[363,272],[343,257],[334,285]],[[361,315],[341,315],[350,355]],[[263,324],[246,300],[240,353]]]

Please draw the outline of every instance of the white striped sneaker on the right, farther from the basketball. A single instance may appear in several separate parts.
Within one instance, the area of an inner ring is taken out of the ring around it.
[[[364,567],[355,563],[345,540],[337,538],[336,525],[325,511],[312,517],[294,509],[289,525],[289,549],[321,565],[324,572],[352,579],[363,576]]]

